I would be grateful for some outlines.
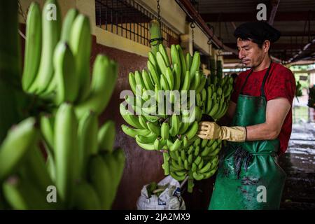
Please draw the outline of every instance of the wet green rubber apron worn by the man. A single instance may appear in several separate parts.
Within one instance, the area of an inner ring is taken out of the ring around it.
[[[264,86],[271,64],[262,81],[260,97],[242,94],[253,70],[246,77],[232,126],[265,123]],[[286,173],[277,162],[278,151],[279,139],[229,142],[218,168],[209,209],[279,209]]]

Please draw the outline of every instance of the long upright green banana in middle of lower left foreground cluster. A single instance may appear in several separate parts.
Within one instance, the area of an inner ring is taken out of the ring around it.
[[[59,106],[55,119],[56,186],[61,199],[69,205],[78,178],[78,121],[71,104]]]

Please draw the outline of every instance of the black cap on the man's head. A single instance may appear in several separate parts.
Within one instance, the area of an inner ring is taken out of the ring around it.
[[[246,22],[235,29],[234,36],[242,39],[251,38],[255,43],[263,43],[267,40],[273,43],[278,41],[281,32],[267,22]]]

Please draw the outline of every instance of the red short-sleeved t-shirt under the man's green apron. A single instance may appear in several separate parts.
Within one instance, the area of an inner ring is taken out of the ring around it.
[[[231,97],[232,102],[235,102],[235,104],[237,104],[239,92],[241,91],[241,87],[250,71],[251,69],[241,72],[237,77],[235,90]],[[244,86],[243,94],[259,97],[260,87],[266,71],[267,69],[263,69],[262,71],[253,71]],[[279,155],[281,155],[285,153],[288,148],[288,141],[292,132],[292,103],[293,98],[295,97],[295,78],[292,71],[281,64],[273,62],[269,71],[269,76],[265,83],[265,96],[267,101],[275,99],[276,97],[284,97],[288,99],[291,104],[290,111],[283,122],[281,132],[278,136],[280,141]]]

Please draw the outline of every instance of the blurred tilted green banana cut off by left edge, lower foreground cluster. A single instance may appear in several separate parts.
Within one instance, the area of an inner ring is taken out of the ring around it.
[[[0,146],[0,183],[13,174],[38,139],[35,118],[27,118],[8,131]]]

